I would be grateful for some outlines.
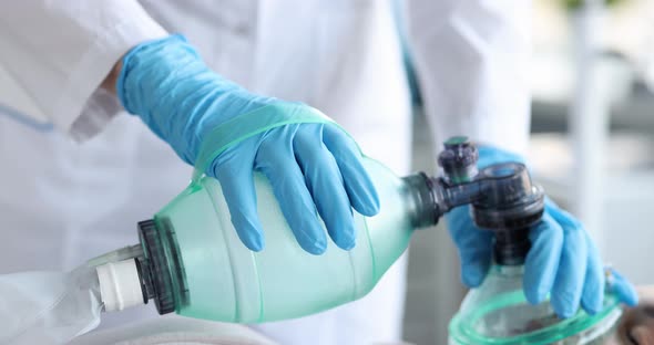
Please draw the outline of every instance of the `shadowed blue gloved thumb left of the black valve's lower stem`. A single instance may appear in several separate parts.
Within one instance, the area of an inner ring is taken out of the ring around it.
[[[468,288],[481,285],[492,261],[492,232],[474,226],[470,207],[461,206],[447,213],[448,230],[459,250],[461,281]]]

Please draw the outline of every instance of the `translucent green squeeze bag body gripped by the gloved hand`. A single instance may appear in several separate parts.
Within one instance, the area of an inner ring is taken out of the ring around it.
[[[406,250],[412,232],[412,200],[405,182],[365,159],[379,194],[380,212],[355,212],[357,244],[345,251],[328,241],[321,255],[304,251],[290,231],[268,180],[255,174],[265,248],[249,251],[229,220],[219,184],[204,177],[162,209],[155,219],[175,233],[186,301],[181,315],[256,323],[299,317],[367,294]]]

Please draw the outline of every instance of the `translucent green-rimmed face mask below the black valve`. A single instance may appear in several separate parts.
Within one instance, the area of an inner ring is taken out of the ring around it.
[[[600,313],[589,315],[580,311],[561,320],[549,301],[528,303],[521,273],[503,275],[499,270],[495,266],[482,286],[466,297],[461,311],[450,322],[450,344],[603,344],[622,314],[619,301],[607,294]]]

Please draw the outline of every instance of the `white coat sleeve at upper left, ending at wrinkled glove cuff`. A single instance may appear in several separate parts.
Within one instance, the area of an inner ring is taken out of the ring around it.
[[[99,87],[115,62],[140,42],[164,35],[135,0],[0,1],[0,65],[55,127],[78,140],[99,133],[121,109]]]

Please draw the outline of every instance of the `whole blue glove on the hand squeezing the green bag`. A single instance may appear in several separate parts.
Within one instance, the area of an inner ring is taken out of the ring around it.
[[[198,164],[200,149],[211,140],[212,129],[236,116],[288,117],[292,123],[295,112],[318,112],[247,92],[210,70],[177,35],[132,49],[123,59],[116,90],[125,109],[139,115],[192,165]],[[292,123],[267,129],[228,147],[205,169],[219,180],[238,237],[254,251],[264,248],[264,233],[253,170],[270,180],[297,241],[314,254],[327,245],[318,213],[334,242],[347,250],[355,245],[356,236],[351,208],[364,216],[379,210],[357,145],[336,125]]]

